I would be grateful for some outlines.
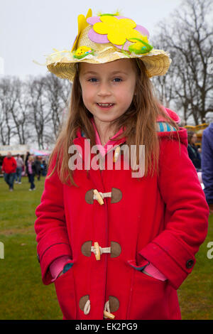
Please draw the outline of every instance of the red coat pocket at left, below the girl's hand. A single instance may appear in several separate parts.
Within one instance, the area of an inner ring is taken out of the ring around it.
[[[70,264],[75,264],[75,261],[69,261]],[[70,268],[55,280],[55,291],[58,297],[63,319],[76,320],[76,298],[75,298],[75,281],[73,269]]]

